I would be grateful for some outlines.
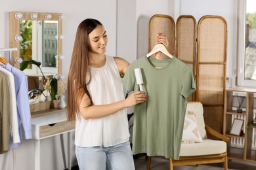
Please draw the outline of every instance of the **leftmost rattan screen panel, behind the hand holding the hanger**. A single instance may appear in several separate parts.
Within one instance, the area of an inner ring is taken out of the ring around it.
[[[175,22],[171,16],[156,14],[150,18],[149,23],[149,44],[148,51],[150,52],[157,44],[158,33],[165,33],[169,46],[168,52],[174,56],[175,54]]]

